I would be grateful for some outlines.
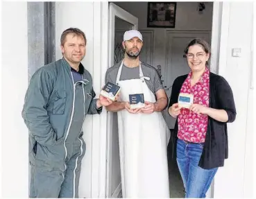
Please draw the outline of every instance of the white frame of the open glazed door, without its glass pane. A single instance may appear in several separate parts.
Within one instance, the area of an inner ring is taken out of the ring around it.
[[[114,3],[109,4],[109,43],[108,46],[108,67],[114,65],[114,22],[115,17],[119,17],[124,21],[128,21],[130,24],[133,24],[133,29],[138,28],[138,19],[133,15],[130,15],[129,12],[123,10]],[[112,182],[112,112],[108,112],[108,127],[107,127],[107,168],[106,168],[106,197],[111,198],[111,182]]]

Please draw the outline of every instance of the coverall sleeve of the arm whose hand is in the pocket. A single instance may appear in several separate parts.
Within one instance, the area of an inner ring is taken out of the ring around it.
[[[56,141],[46,106],[53,90],[53,78],[44,69],[39,69],[31,78],[25,96],[22,117],[31,135],[43,146],[51,146]]]

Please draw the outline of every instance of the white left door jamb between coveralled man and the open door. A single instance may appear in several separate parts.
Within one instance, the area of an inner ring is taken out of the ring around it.
[[[101,69],[99,72],[99,76],[97,76],[97,80],[100,81],[101,87],[105,85],[105,71],[108,69],[108,1],[104,2],[94,2],[95,4],[95,13],[100,12],[101,15],[95,14],[94,17],[99,18],[101,21],[98,20],[99,26],[98,30],[101,34],[101,37],[96,37],[95,40],[99,40],[100,49],[96,53],[98,56],[98,60],[100,60]],[[96,10],[97,9],[97,10]],[[96,41],[95,41],[96,42]],[[99,57],[100,55],[100,57]],[[99,88],[99,90],[101,89]],[[106,159],[107,159],[107,129],[108,129],[108,113],[103,107],[101,112],[100,121],[95,126],[99,126],[99,137],[95,137],[92,133],[92,141],[93,144],[96,145],[93,148],[92,159],[92,198],[105,198],[106,193]],[[93,129],[94,130],[94,129]],[[94,153],[95,152],[95,153]],[[93,172],[94,168],[94,172]]]

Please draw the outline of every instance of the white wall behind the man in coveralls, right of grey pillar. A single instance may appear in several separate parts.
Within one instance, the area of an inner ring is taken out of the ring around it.
[[[56,2],[56,60],[62,58],[60,35],[69,27],[80,28],[87,37],[87,53],[82,63],[91,73],[94,92],[96,96],[99,96],[101,89],[101,3]],[[83,124],[86,152],[80,173],[79,198],[98,197],[100,122],[101,116],[87,115]]]

